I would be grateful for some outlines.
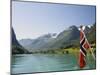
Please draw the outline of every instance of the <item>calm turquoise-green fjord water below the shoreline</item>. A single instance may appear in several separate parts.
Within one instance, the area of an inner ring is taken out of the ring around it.
[[[95,69],[95,67],[95,61],[89,56],[84,69]],[[17,54],[12,56],[12,74],[69,70],[80,70],[78,56],[72,54]]]

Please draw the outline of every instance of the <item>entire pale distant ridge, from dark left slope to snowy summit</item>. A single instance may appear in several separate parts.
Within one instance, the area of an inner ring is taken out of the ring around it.
[[[19,40],[19,43],[22,44],[22,46],[24,46],[28,50],[33,48],[39,49],[40,47],[42,47],[43,45],[54,39],[56,35],[57,35],[56,33],[48,33],[38,37],[37,39],[22,39],[24,43],[22,43],[22,40]],[[25,43],[27,43],[27,45],[25,45]]]

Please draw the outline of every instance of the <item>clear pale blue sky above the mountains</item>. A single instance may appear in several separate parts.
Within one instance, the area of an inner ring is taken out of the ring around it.
[[[92,25],[95,6],[12,2],[12,27],[16,37],[35,39],[48,33],[60,33],[69,26]]]

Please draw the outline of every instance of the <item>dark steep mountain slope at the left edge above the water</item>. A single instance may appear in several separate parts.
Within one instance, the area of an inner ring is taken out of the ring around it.
[[[29,53],[26,49],[24,49],[19,42],[16,39],[15,32],[13,28],[12,31],[12,54],[23,54],[23,53]]]

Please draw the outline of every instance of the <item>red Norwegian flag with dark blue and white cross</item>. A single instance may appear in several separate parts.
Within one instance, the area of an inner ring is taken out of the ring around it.
[[[79,56],[79,66],[84,68],[86,65],[86,54],[87,49],[90,48],[90,45],[86,39],[83,29],[80,29],[80,56]]]

